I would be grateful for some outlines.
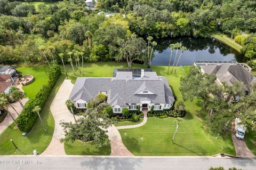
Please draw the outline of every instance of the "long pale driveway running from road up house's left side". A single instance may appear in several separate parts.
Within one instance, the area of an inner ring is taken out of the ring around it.
[[[73,115],[70,114],[65,104],[73,87],[74,85],[71,83],[71,80],[65,79],[51,103],[50,109],[54,118],[54,132],[51,143],[42,155],[66,155],[64,144],[60,143],[60,139],[64,137],[60,121],[75,122]]]

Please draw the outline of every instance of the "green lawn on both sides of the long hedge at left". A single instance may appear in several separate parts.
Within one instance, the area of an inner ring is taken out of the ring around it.
[[[39,88],[41,88],[41,86],[48,80],[47,78],[45,78],[47,66],[26,66],[18,68],[18,70],[22,71],[22,73],[26,72],[26,74],[31,74],[35,76],[35,82],[28,86],[25,86],[26,88],[24,88],[25,92],[30,98],[35,96]],[[50,111],[50,105],[64,79],[65,76],[61,75],[57,83],[53,87],[51,94],[47,99],[41,112],[43,122],[46,125],[47,133],[45,133],[39,119],[37,119],[36,124],[28,133],[27,137],[22,137],[22,132],[19,131],[18,128],[13,129],[13,123],[8,128],[6,128],[5,131],[0,135],[0,155],[27,155],[33,154],[33,150],[37,150],[39,153],[42,153],[47,148],[47,146],[51,142],[54,131],[54,119]],[[15,151],[15,148],[10,142],[10,139],[13,139],[15,144],[18,145],[18,151]]]

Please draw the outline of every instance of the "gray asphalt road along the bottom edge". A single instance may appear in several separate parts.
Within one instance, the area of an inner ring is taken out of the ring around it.
[[[69,156],[1,156],[0,169],[209,169],[223,166],[256,169],[256,158],[211,157],[69,157]]]

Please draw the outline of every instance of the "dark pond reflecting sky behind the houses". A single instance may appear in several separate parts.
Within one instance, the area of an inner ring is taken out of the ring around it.
[[[243,62],[243,55],[229,47],[226,44],[219,42],[214,38],[193,38],[179,37],[168,39],[156,39],[157,47],[155,47],[153,66],[168,66],[170,60],[170,44],[181,43],[187,47],[178,63],[178,66],[186,66],[194,64],[195,61],[237,61]],[[178,56],[181,53],[178,50]],[[174,62],[176,51],[173,51],[171,66]],[[176,62],[177,62],[176,60]],[[175,64],[176,64],[175,62]]]

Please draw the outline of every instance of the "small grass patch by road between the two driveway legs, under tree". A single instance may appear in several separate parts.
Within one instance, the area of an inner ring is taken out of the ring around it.
[[[106,146],[95,148],[93,142],[82,142],[76,140],[74,143],[65,143],[65,152],[67,155],[110,155],[110,143]]]

